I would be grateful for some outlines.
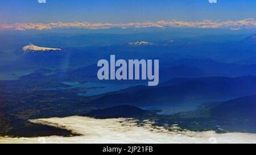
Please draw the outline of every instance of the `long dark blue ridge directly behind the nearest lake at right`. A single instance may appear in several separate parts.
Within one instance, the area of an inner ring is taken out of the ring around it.
[[[102,94],[92,101],[97,107],[129,104],[132,106],[199,106],[203,102],[226,100],[256,94],[256,77],[175,78],[155,87],[134,87]]]

